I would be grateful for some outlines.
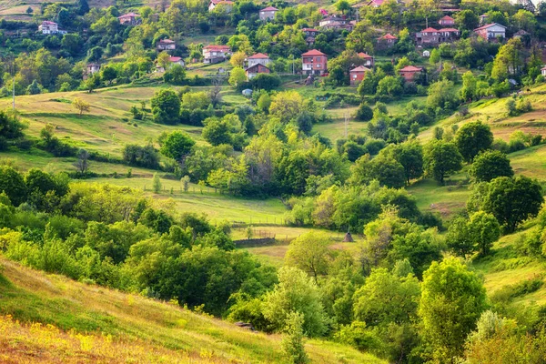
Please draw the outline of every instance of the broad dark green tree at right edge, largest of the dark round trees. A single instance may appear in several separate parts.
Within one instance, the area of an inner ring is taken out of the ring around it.
[[[542,202],[538,181],[524,176],[497,177],[476,187],[468,206],[472,211],[489,212],[507,232],[512,232],[527,218],[537,216]]]

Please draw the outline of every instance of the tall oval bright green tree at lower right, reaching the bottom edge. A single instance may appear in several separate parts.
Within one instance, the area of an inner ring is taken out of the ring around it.
[[[419,316],[430,359],[453,362],[487,307],[483,284],[456,258],[434,262],[423,276]]]

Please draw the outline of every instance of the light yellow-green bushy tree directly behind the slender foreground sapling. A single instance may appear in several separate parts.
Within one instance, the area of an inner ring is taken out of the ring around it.
[[[278,270],[278,285],[264,298],[264,316],[278,330],[285,328],[292,312],[303,315],[303,330],[309,337],[326,332],[329,318],[320,302],[320,291],[313,278],[298,268]]]

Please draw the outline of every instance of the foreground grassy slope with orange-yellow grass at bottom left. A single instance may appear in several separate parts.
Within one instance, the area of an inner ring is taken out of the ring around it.
[[[252,333],[175,304],[45,275],[0,258],[2,362],[283,362],[278,335]],[[40,324],[38,324],[40,323]],[[382,363],[309,340],[319,363]]]

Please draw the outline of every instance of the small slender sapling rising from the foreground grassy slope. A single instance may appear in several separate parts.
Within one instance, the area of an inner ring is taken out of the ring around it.
[[[308,363],[308,355],[305,352],[303,343],[303,322],[304,317],[298,312],[290,312],[284,329],[284,336],[280,343],[282,351],[291,364]]]

